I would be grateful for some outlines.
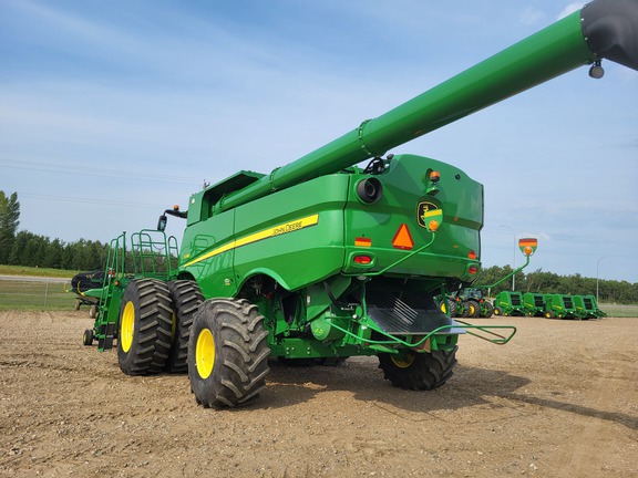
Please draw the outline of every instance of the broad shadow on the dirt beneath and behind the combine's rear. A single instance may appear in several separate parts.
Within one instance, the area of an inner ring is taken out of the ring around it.
[[[411,412],[454,411],[490,405],[483,397],[506,396],[529,383],[528,378],[488,368],[457,365],[445,385],[434,391],[407,391],[393,387],[377,367],[375,357],[350,358],[332,366],[287,366],[270,362],[268,385],[249,408],[279,408],[320,398],[321,394],[347,392],[348,401],[373,402]]]

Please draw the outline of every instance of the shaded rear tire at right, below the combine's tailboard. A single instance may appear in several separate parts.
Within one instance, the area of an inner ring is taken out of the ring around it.
[[[433,389],[443,385],[456,365],[456,350],[415,353],[407,351],[399,355],[379,354],[379,368],[392,385],[409,389]]]

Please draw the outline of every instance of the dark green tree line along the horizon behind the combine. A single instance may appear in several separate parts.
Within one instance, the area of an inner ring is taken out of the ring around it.
[[[28,231],[18,231],[20,225],[18,194],[7,196],[0,190],[0,264],[44,267],[90,271],[102,269],[106,263],[109,245],[80,239],[75,242],[51,240]],[[512,272],[510,266],[493,266],[483,269],[476,284],[493,284]],[[596,280],[580,274],[558,276],[541,269],[515,277],[515,289],[519,292],[596,294],[601,302],[638,303],[638,283],[616,280]],[[491,294],[512,290],[512,279],[491,289]]]

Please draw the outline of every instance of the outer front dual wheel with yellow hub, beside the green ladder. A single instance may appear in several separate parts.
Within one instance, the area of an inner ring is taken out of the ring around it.
[[[165,282],[133,280],[120,306],[117,361],[126,375],[160,373],[171,350],[171,293]]]

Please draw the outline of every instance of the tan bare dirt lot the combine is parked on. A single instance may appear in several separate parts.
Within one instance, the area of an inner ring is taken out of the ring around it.
[[[513,341],[462,337],[434,392],[374,357],[272,362],[256,404],[220,412],[84,347],[84,310],[0,312],[0,476],[638,477],[638,320],[498,320]]]

